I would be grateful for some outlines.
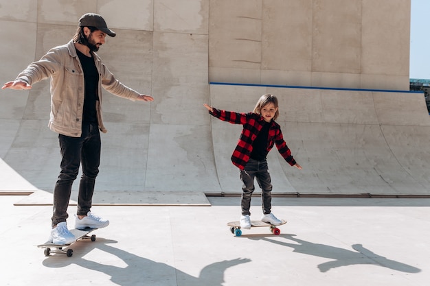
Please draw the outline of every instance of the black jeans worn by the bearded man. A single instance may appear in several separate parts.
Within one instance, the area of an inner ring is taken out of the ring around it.
[[[87,215],[91,208],[95,178],[100,165],[100,132],[97,123],[83,123],[82,136],[70,137],[58,135],[61,152],[61,171],[54,188],[54,207],[52,226],[65,222],[69,215],[67,206],[71,195],[71,186],[78,176],[82,163],[82,176],[79,184],[78,215]]]

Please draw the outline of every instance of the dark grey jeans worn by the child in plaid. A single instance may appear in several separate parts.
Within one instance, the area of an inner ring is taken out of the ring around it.
[[[254,178],[257,179],[258,185],[260,186],[262,193],[262,209],[265,215],[271,213],[271,191],[272,184],[269,174],[269,167],[267,166],[267,160],[253,160],[249,159],[244,170],[240,171],[240,180],[243,182],[242,186],[242,215],[251,215],[249,208],[251,208],[251,196],[254,187]]]

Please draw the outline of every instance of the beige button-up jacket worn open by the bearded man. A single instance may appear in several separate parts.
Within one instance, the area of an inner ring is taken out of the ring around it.
[[[131,100],[135,100],[139,93],[116,80],[96,53],[93,53],[93,58],[100,75],[99,102],[96,106],[98,126],[106,133],[102,120],[102,87],[113,95]],[[51,77],[51,114],[48,127],[66,136],[79,137],[84,108],[84,74],[73,40],[66,45],[50,49],[41,60],[33,62],[22,71],[16,80],[32,85],[49,77]]]

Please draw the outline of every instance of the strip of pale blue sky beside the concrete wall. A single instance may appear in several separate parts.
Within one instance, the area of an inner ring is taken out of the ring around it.
[[[409,78],[430,80],[430,1],[411,0]]]

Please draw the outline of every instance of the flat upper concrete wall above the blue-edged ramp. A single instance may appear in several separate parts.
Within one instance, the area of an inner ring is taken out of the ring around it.
[[[210,1],[210,81],[409,90],[410,4]]]

